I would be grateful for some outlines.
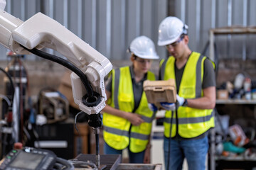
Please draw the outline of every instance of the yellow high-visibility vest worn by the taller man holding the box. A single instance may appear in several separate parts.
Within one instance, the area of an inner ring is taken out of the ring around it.
[[[178,96],[183,98],[200,98],[203,96],[203,62],[206,57],[203,57],[198,52],[192,52],[183,71],[181,84],[178,91]],[[213,63],[213,67],[215,67]],[[176,79],[175,78],[175,58],[169,57],[164,62],[161,62],[161,79]],[[214,127],[214,115],[212,109],[198,109],[179,106],[176,114],[171,118],[171,111],[166,111],[164,120],[164,135],[171,137],[176,135],[178,120],[178,135],[185,138],[197,137],[203,134],[208,129]],[[171,128],[172,122],[172,128]]]

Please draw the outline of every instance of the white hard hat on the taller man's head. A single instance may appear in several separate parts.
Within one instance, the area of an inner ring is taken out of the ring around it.
[[[159,25],[159,39],[157,45],[169,45],[181,36],[187,34],[188,26],[175,16],[164,18]]]

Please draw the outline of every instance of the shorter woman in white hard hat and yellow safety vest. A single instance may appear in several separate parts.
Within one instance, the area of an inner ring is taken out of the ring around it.
[[[146,36],[130,46],[132,66],[113,69],[106,81],[107,103],[103,113],[105,154],[128,149],[130,163],[149,163],[150,133],[154,112],[148,108],[143,82],[155,80],[151,61],[159,59],[154,42]]]

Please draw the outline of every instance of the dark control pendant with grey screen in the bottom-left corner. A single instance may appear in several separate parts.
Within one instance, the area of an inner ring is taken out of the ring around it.
[[[24,147],[12,149],[1,164],[2,170],[46,170],[51,169],[56,162],[56,155],[45,149]]]

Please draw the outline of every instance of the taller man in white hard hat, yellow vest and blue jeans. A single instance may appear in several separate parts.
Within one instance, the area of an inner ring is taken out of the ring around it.
[[[176,81],[176,103],[161,103],[164,120],[164,162],[166,170],[206,169],[208,131],[214,127],[215,64],[188,47],[188,26],[169,16],[159,25],[158,45],[170,57],[160,62],[161,80]],[[150,108],[155,108],[153,104]],[[154,109],[153,109],[154,110]]]

